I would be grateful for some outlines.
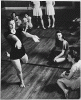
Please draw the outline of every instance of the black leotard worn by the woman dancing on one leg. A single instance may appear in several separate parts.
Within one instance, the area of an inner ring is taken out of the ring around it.
[[[12,60],[20,59],[20,58],[22,58],[22,57],[25,55],[24,46],[23,46],[23,44],[22,44],[21,49],[15,48],[15,43],[16,43],[16,41],[14,41],[13,39],[7,38],[7,36],[8,36],[9,34],[12,34],[12,33],[10,32],[10,30],[8,30],[7,32],[4,33],[5,38],[7,39],[8,43],[11,45],[10,59],[12,59]],[[19,40],[20,40],[21,43],[22,43],[22,29],[21,29],[21,28],[18,28],[18,29],[16,30],[15,35],[19,38]]]

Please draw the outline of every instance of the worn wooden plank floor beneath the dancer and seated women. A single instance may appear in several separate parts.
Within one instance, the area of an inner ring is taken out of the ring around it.
[[[58,27],[56,29],[62,29]],[[62,90],[56,84],[60,74],[70,68],[71,64],[64,62],[57,66],[47,65],[47,55],[54,46],[56,29],[32,29],[31,34],[40,37],[40,43],[35,43],[30,38],[23,37],[24,47],[28,54],[29,64],[22,64],[23,78],[26,87],[19,87],[19,79],[12,63],[6,57],[6,51],[10,46],[2,36],[1,42],[1,98],[2,99],[64,99]],[[4,30],[3,30],[4,31]],[[2,31],[2,32],[3,32]],[[72,44],[78,40],[63,29],[64,35]],[[42,66],[41,66],[42,65]],[[44,66],[46,65],[46,66]],[[57,68],[56,68],[57,67]],[[78,99],[80,93],[77,90],[69,92],[69,99]]]

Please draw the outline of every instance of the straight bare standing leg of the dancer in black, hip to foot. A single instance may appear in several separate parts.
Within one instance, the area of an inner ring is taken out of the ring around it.
[[[22,75],[22,68],[21,68],[21,63],[20,63],[20,59],[16,59],[16,60],[11,60],[11,62],[13,63],[16,71],[17,71],[17,76],[20,79],[20,87],[25,87],[24,85],[24,81],[23,81],[23,75]]]

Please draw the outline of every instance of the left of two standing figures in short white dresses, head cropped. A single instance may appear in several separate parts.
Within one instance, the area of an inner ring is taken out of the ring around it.
[[[44,27],[44,22],[43,22],[43,19],[42,19],[42,9],[40,7],[40,1],[33,1],[33,4],[34,4],[34,8],[33,8],[33,16],[36,17],[37,19],[37,22],[39,23],[39,18],[41,20],[41,24],[42,24],[42,28],[43,29],[46,29]],[[40,26],[38,25],[37,28],[39,28]]]

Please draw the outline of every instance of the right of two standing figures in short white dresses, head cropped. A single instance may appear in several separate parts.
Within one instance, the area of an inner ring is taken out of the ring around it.
[[[49,23],[48,28],[50,28],[50,26],[51,26],[51,18],[50,17],[52,17],[52,20],[53,20],[52,28],[54,28],[54,26],[55,26],[54,5],[55,5],[54,1],[46,1],[46,15],[48,16],[48,23]]]

